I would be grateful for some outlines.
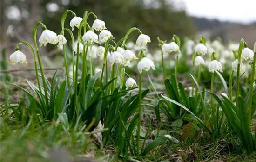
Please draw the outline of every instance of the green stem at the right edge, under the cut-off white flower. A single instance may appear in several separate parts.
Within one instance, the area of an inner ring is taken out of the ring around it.
[[[249,106],[248,106],[248,116],[251,119],[251,108],[252,108],[252,94],[253,94],[253,83],[254,83],[254,75],[255,75],[255,60],[256,60],[256,52],[254,53],[253,63],[252,63],[252,75],[251,75],[251,84],[250,84],[250,94],[249,94]],[[250,125],[251,120],[249,120]],[[256,140],[256,139],[255,139]]]

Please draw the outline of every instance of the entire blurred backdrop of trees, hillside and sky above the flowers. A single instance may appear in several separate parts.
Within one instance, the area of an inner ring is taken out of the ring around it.
[[[173,34],[194,40],[220,37],[224,44],[243,37],[250,48],[256,40],[255,0],[0,0],[0,6],[0,49],[7,53],[20,41],[32,43],[32,27],[40,20],[59,33],[67,9],[80,17],[86,10],[94,12],[117,39],[135,26],[151,37],[151,48],[157,47],[157,37],[169,40]],[[66,27],[71,19],[68,14]]]

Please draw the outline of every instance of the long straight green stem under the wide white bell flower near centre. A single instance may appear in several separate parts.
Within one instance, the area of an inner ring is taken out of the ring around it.
[[[140,138],[141,138],[141,110],[142,110],[142,73],[139,74],[139,121],[137,125],[137,155],[140,150]]]

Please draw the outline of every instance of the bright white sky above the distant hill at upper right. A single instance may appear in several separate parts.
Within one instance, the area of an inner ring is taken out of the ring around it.
[[[256,0],[173,0],[189,15],[248,24],[256,22]]]

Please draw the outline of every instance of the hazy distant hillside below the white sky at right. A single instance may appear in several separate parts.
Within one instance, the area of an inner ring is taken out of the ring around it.
[[[256,41],[256,22],[243,25],[198,17],[192,17],[192,20],[198,30],[197,34],[211,40],[221,37],[224,43],[228,41],[239,42],[243,37],[250,48],[253,47]]]

